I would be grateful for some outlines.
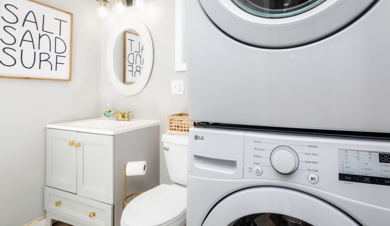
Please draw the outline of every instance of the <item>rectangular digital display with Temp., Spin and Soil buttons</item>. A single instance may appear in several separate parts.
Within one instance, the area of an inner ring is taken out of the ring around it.
[[[390,153],[339,149],[339,180],[390,186]]]

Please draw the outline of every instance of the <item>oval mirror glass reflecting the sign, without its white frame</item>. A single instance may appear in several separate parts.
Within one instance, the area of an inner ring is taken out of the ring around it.
[[[118,80],[124,85],[137,82],[144,65],[144,45],[137,31],[127,29],[115,43],[114,67]]]

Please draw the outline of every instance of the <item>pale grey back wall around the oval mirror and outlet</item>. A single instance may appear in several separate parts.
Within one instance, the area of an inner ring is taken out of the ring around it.
[[[103,112],[105,102],[112,102],[112,110],[134,110],[132,118],[161,121],[161,136],[167,131],[169,114],[188,113],[187,89],[184,89],[184,95],[170,94],[171,80],[184,80],[184,87],[187,87],[186,72],[175,71],[175,1],[144,0],[144,2],[146,9],[143,12],[137,11],[135,7],[128,7],[124,15],[117,16],[111,12],[108,18],[102,21],[100,110]],[[135,96],[122,96],[117,93],[108,79],[106,70],[108,38],[115,25],[126,18],[137,18],[145,24],[151,34],[154,48],[151,77],[145,88]],[[160,182],[170,183],[164,153],[161,149],[159,152]]]

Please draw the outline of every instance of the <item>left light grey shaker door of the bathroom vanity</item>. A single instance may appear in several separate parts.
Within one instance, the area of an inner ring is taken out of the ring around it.
[[[46,185],[76,193],[77,132],[46,130]]]

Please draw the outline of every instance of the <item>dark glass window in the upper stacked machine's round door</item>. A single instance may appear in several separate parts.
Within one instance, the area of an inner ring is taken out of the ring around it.
[[[263,17],[293,16],[316,7],[324,0],[233,0],[243,10]]]

